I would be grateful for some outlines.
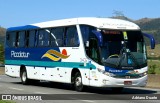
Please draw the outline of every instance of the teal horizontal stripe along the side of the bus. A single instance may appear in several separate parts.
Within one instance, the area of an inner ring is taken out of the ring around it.
[[[23,61],[23,60],[5,60],[5,65],[25,65],[37,67],[70,67],[70,68],[84,68],[96,69],[96,66],[90,63],[81,62],[49,62],[49,61]]]

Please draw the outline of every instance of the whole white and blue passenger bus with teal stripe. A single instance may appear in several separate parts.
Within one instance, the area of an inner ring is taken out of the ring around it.
[[[45,80],[85,86],[143,87],[147,84],[144,37],[130,21],[79,17],[10,27],[5,40],[5,74],[22,84]]]

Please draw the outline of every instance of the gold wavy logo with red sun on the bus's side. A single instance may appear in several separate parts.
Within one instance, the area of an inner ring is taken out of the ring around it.
[[[56,50],[48,50],[41,58],[47,57],[53,61],[59,61],[60,59],[67,59],[69,56],[66,49],[63,49],[62,53]]]

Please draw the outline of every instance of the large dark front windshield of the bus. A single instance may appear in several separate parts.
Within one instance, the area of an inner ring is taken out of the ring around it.
[[[103,45],[101,62],[105,66],[138,69],[147,65],[146,48],[141,31],[100,30]]]

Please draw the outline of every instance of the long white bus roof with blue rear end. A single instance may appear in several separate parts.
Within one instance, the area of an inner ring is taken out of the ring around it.
[[[140,29],[138,25],[130,21],[112,19],[112,18],[81,17],[81,18],[54,20],[54,21],[35,23],[25,26],[11,27],[8,28],[7,31],[59,27],[59,26],[69,26],[77,24],[91,25],[97,28],[105,28],[105,29],[123,29],[123,30]]]

